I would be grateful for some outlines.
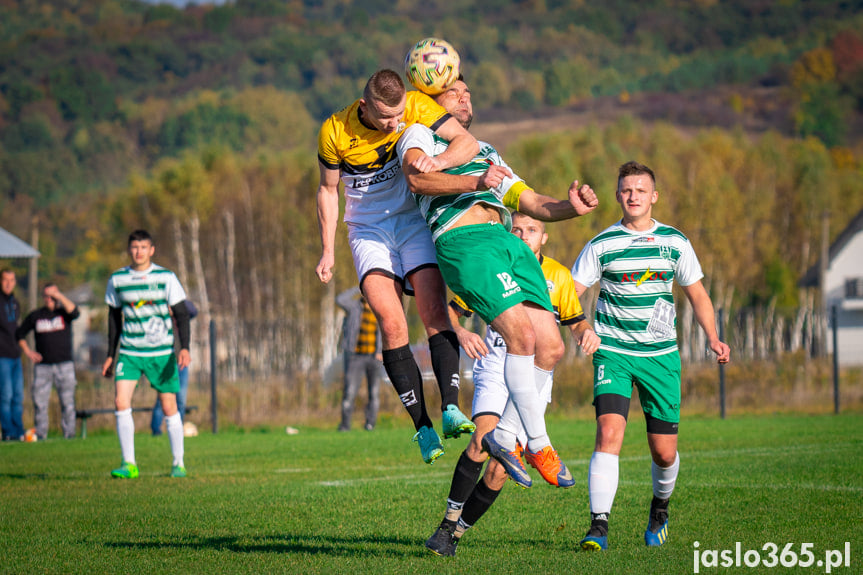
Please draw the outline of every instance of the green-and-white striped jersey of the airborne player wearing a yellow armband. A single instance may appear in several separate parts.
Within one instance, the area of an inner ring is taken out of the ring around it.
[[[399,161],[404,159],[404,154],[411,148],[418,148],[428,156],[438,156],[443,153],[449,142],[432,132],[422,124],[414,124],[405,130],[399,139],[398,154]],[[445,170],[445,173],[461,176],[479,176],[488,170],[490,165],[503,166],[509,169],[500,154],[493,146],[486,142],[479,142],[479,154],[470,162]],[[510,169],[512,172],[512,169]],[[437,239],[445,231],[464,215],[471,206],[479,203],[488,204],[498,208],[500,218],[507,231],[512,229],[512,216],[507,208],[518,209],[517,198],[523,190],[527,189],[524,180],[513,174],[511,178],[505,178],[496,188],[481,192],[466,192],[463,194],[451,194],[447,196],[424,196],[414,194],[414,199],[419,206],[420,212],[428,223],[432,233],[432,239]],[[516,205],[514,205],[516,204]]]

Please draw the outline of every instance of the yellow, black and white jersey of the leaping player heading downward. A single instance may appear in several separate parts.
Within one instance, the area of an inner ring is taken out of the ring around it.
[[[396,143],[408,126],[437,130],[451,116],[421,92],[408,92],[398,129],[386,134],[359,119],[359,100],[324,121],[318,134],[318,160],[341,172],[345,184],[345,221],[376,222],[390,214],[416,211],[402,175]]]

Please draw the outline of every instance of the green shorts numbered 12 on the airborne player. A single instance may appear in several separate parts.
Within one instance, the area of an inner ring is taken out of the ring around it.
[[[553,311],[539,261],[501,224],[449,230],[435,249],[444,281],[486,323],[525,301]]]

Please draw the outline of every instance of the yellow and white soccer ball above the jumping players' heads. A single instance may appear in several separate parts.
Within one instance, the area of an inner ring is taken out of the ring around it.
[[[458,80],[461,59],[452,45],[439,38],[420,40],[405,56],[405,76],[429,96],[445,92]]]

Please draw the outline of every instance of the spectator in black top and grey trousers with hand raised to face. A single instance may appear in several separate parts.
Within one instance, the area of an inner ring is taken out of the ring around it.
[[[72,322],[81,312],[55,284],[42,288],[44,306],[30,312],[15,332],[24,355],[33,362],[33,419],[36,437],[48,437],[48,401],[51,387],[57,388],[62,413],[63,437],[75,437],[75,362],[72,357]],[[27,344],[34,332],[36,350]]]

